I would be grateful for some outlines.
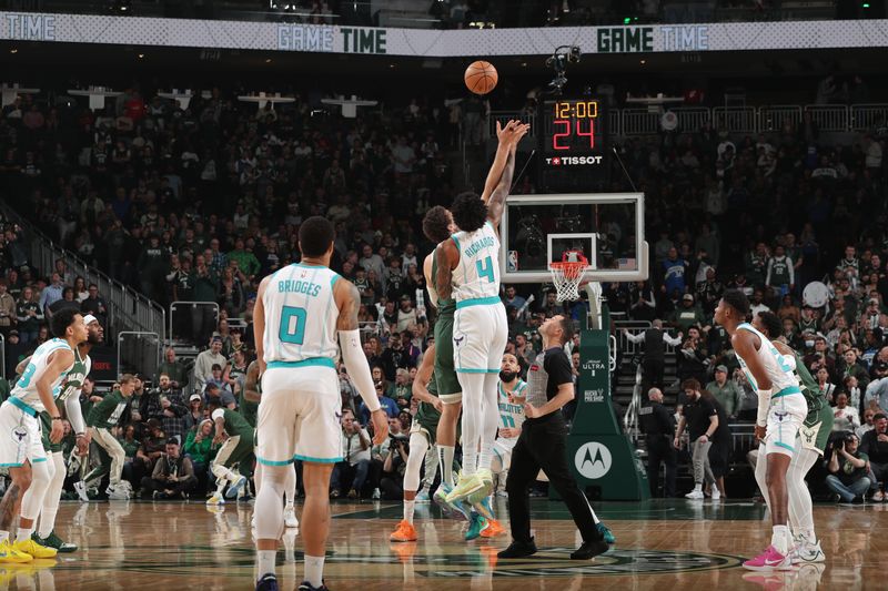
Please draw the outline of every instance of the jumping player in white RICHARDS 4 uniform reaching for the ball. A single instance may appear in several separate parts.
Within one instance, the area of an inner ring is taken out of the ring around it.
[[[446,502],[478,502],[493,488],[491,462],[500,422],[496,384],[500,363],[508,339],[506,310],[500,299],[500,235],[496,226],[515,172],[515,149],[528,125],[511,121],[497,124],[496,160],[505,159],[498,179],[487,177],[485,193],[463,193],[451,207],[460,232],[437,248],[438,297],[456,299],[453,326],[453,357],[463,387],[463,472]],[[490,193],[487,187],[495,186]],[[490,195],[490,196],[487,196]]]

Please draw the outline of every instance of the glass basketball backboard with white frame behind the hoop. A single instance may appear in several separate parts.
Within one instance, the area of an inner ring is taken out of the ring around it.
[[[503,283],[545,283],[567,251],[589,261],[597,282],[647,278],[644,194],[514,195],[500,223]]]

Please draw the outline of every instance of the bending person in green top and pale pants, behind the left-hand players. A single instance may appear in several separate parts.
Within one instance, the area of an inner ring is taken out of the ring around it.
[[[107,490],[109,499],[129,499],[131,493],[129,483],[124,485],[121,480],[127,454],[117,437],[111,435],[111,429],[118,425],[130,403],[130,397],[135,389],[135,376],[125,374],[120,378],[119,384],[119,390],[105,396],[87,415],[87,427],[90,437],[99,446],[101,463],[84,476],[83,481],[90,482],[109,472],[110,483]]]

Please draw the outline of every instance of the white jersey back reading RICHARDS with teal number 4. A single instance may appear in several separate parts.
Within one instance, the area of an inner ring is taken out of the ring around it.
[[[460,263],[453,269],[453,297],[462,302],[500,300],[500,237],[491,222],[475,232],[457,232],[452,236],[460,251]]]

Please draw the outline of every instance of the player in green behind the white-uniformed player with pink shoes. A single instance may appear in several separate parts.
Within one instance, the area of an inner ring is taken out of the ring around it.
[[[784,360],[794,368],[801,394],[808,404],[808,415],[799,429],[795,454],[786,475],[789,523],[793,527],[796,544],[793,559],[800,563],[824,562],[826,557],[814,531],[811,495],[805,483],[805,476],[824,455],[829,434],[833,431],[833,412],[817,386],[817,380],[811,377],[801,357],[783,340],[780,318],[771,312],[760,312],[753,318],[753,326],[771,339],[775,348],[784,356]],[[766,466],[764,461],[759,461],[756,463],[756,481],[761,490],[767,490],[765,480]]]

